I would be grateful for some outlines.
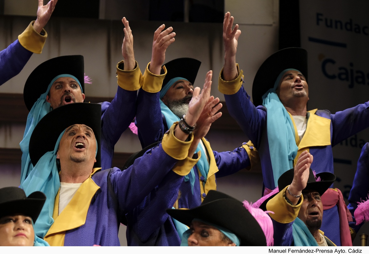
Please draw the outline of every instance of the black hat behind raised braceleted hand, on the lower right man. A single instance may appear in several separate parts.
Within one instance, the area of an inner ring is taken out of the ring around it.
[[[294,169],[287,170],[278,178],[278,190],[281,191],[286,188],[287,185],[290,185],[293,180]],[[320,181],[316,181],[315,177]],[[306,188],[304,190],[314,190],[319,193],[319,195],[323,195],[324,192],[332,185],[332,183],[336,180],[336,176],[330,172],[321,172],[314,176],[313,170],[309,169],[309,178],[307,179]],[[277,193],[270,196],[260,205],[260,209],[266,211],[266,203]]]

